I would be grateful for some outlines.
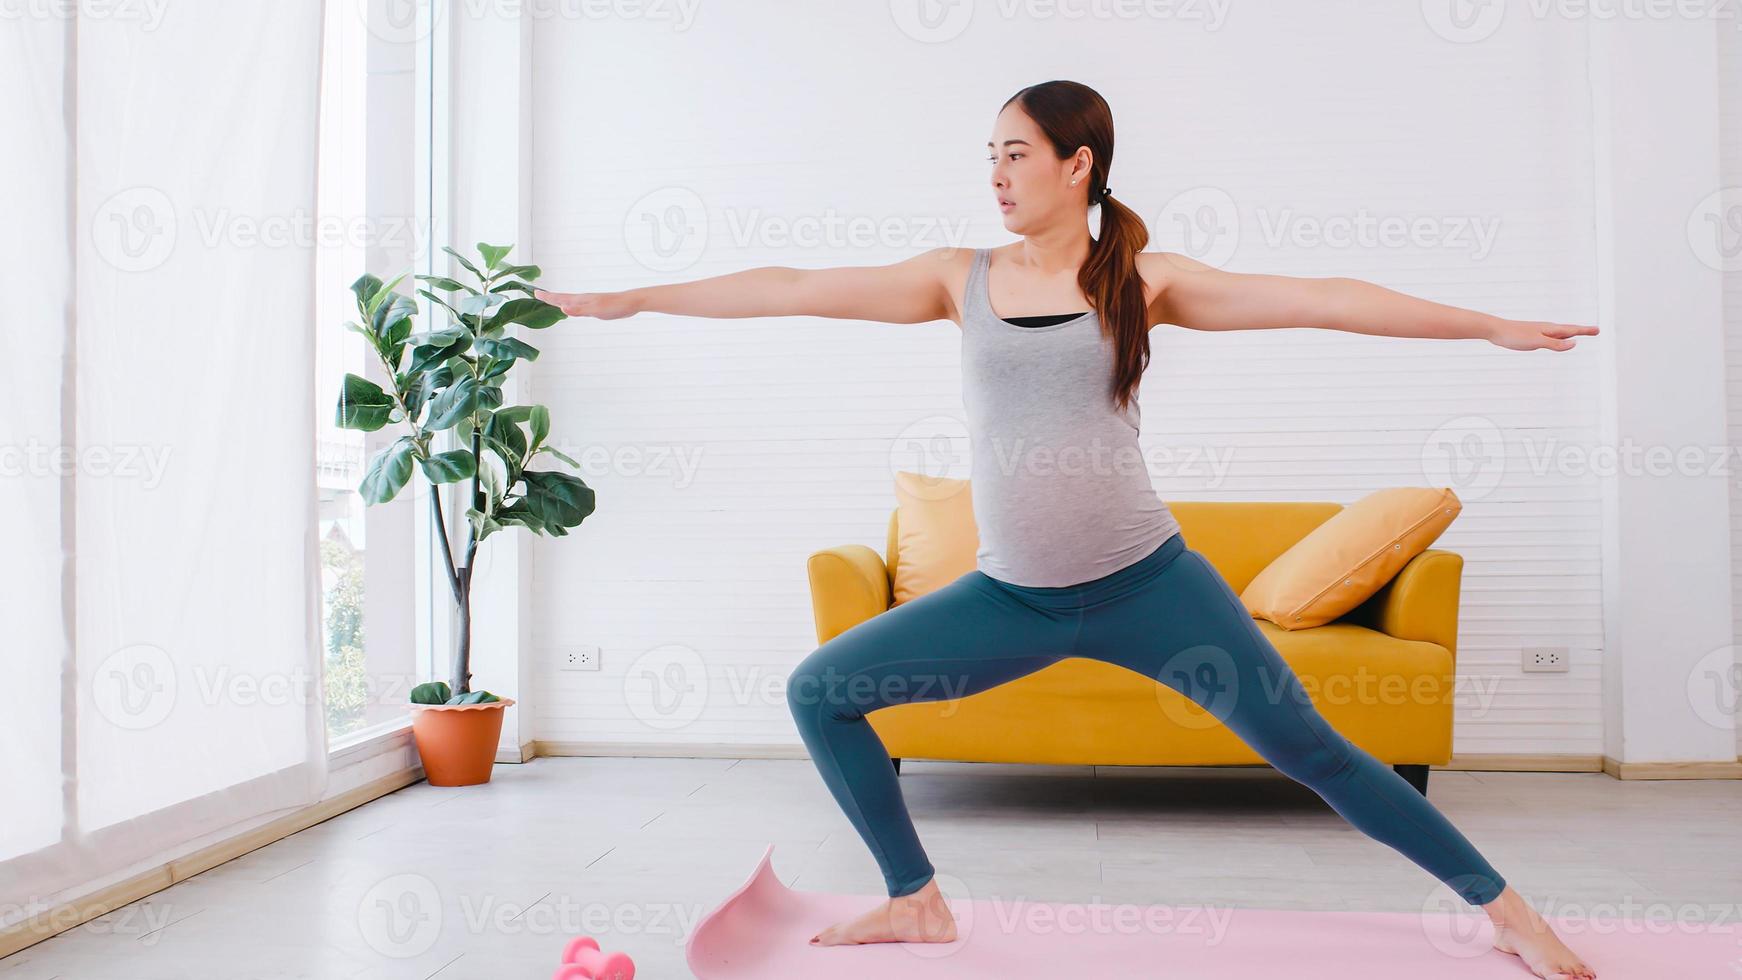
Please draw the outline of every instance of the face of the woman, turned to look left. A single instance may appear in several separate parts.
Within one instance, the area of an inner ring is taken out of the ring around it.
[[[1003,212],[1003,226],[1028,235],[1056,221],[1082,221],[1089,205],[1089,150],[1059,160],[1035,120],[1017,103],[998,113],[991,143],[991,190]],[[1071,186],[1071,181],[1077,186]]]

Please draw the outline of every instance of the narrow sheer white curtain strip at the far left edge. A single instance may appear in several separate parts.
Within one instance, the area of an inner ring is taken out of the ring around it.
[[[0,862],[61,839],[61,381],[71,296],[66,70],[71,28],[56,19],[0,30],[0,560],[9,724],[0,726]],[[0,881],[10,881],[0,865]],[[5,888],[3,891],[12,891]],[[10,895],[0,895],[0,902]]]

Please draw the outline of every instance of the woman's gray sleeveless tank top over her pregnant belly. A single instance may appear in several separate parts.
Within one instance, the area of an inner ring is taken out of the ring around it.
[[[1094,312],[1047,327],[1002,320],[989,259],[974,249],[962,303],[976,567],[1052,588],[1136,564],[1179,524],[1150,484],[1136,397],[1113,404],[1113,341]]]

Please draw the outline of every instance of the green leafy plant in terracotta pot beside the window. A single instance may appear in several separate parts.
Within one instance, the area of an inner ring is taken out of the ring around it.
[[[512,327],[544,329],[564,313],[535,298],[538,266],[507,263],[514,245],[477,244],[479,261],[444,247],[470,275],[462,282],[418,275],[418,289],[446,312],[446,324],[413,332],[416,299],[364,273],[350,285],[359,319],[345,326],[368,339],[392,390],[345,374],[336,423],[376,432],[404,425],[406,433],[369,460],[357,491],[364,505],[387,503],[416,470],[432,484],[430,510],[441,538],[441,567],[453,597],[458,628],[451,679],[411,691],[411,731],[432,785],[456,787],[490,780],[502,736],[503,700],[472,689],[472,569],[477,547],[509,526],[563,536],[592,513],[592,487],[561,470],[533,468],[540,456],[578,465],[547,446],[550,413],[544,406],[502,406],[502,385],[516,364],[537,360],[538,350],[510,336]],[[434,308],[432,306],[432,308]],[[455,449],[437,435],[451,433]],[[465,484],[465,552],[455,560],[453,533],[442,517],[441,484]]]

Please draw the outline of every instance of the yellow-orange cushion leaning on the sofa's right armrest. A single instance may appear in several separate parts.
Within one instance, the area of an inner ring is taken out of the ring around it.
[[[1451,524],[1463,503],[1451,487],[1387,487],[1313,527],[1240,592],[1258,620],[1284,630],[1320,627],[1361,606]]]

